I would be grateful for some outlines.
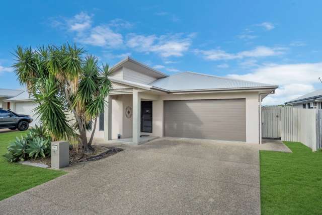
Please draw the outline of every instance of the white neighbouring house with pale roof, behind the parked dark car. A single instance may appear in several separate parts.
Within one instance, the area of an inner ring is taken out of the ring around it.
[[[34,111],[34,109],[38,106],[38,103],[34,98],[30,97],[27,91],[21,91],[21,93],[17,96],[8,98],[3,101],[10,104],[10,107],[7,107],[7,109],[10,108],[15,113],[30,115],[33,118],[30,126],[40,124],[38,115],[36,115]]]

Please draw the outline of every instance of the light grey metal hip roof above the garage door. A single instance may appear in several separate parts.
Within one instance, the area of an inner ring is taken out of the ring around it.
[[[194,90],[232,90],[232,89],[259,89],[278,86],[237,79],[223,78],[200,73],[185,72],[167,78],[158,79],[149,85],[169,91]]]

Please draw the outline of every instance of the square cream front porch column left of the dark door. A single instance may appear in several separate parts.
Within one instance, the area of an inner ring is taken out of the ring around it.
[[[139,144],[141,135],[141,98],[137,89],[133,89],[133,134],[132,141]]]

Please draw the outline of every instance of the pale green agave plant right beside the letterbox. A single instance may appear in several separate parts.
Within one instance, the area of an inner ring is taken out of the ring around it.
[[[33,140],[29,142],[28,149],[26,153],[29,154],[31,158],[37,158],[38,156],[46,157],[48,153],[48,148],[50,149],[49,140],[36,136]]]

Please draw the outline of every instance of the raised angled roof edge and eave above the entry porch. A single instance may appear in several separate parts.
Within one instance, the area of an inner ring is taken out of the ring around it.
[[[134,60],[133,58],[131,57],[126,57],[125,59],[121,60],[120,62],[116,63],[112,68],[111,70],[117,70],[118,68],[120,67],[127,67],[127,68],[130,68],[132,70],[135,70],[135,71],[138,71],[139,73],[143,73],[145,75],[148,75],[148,76],[151,76],[151,77],[154,77],[156,79],[159,79],[159,78],[164,78],[164,77],[168,77],[167,74],[164,74],[158,70],[155,70],[143,63],[140,63],[136,60]]]

